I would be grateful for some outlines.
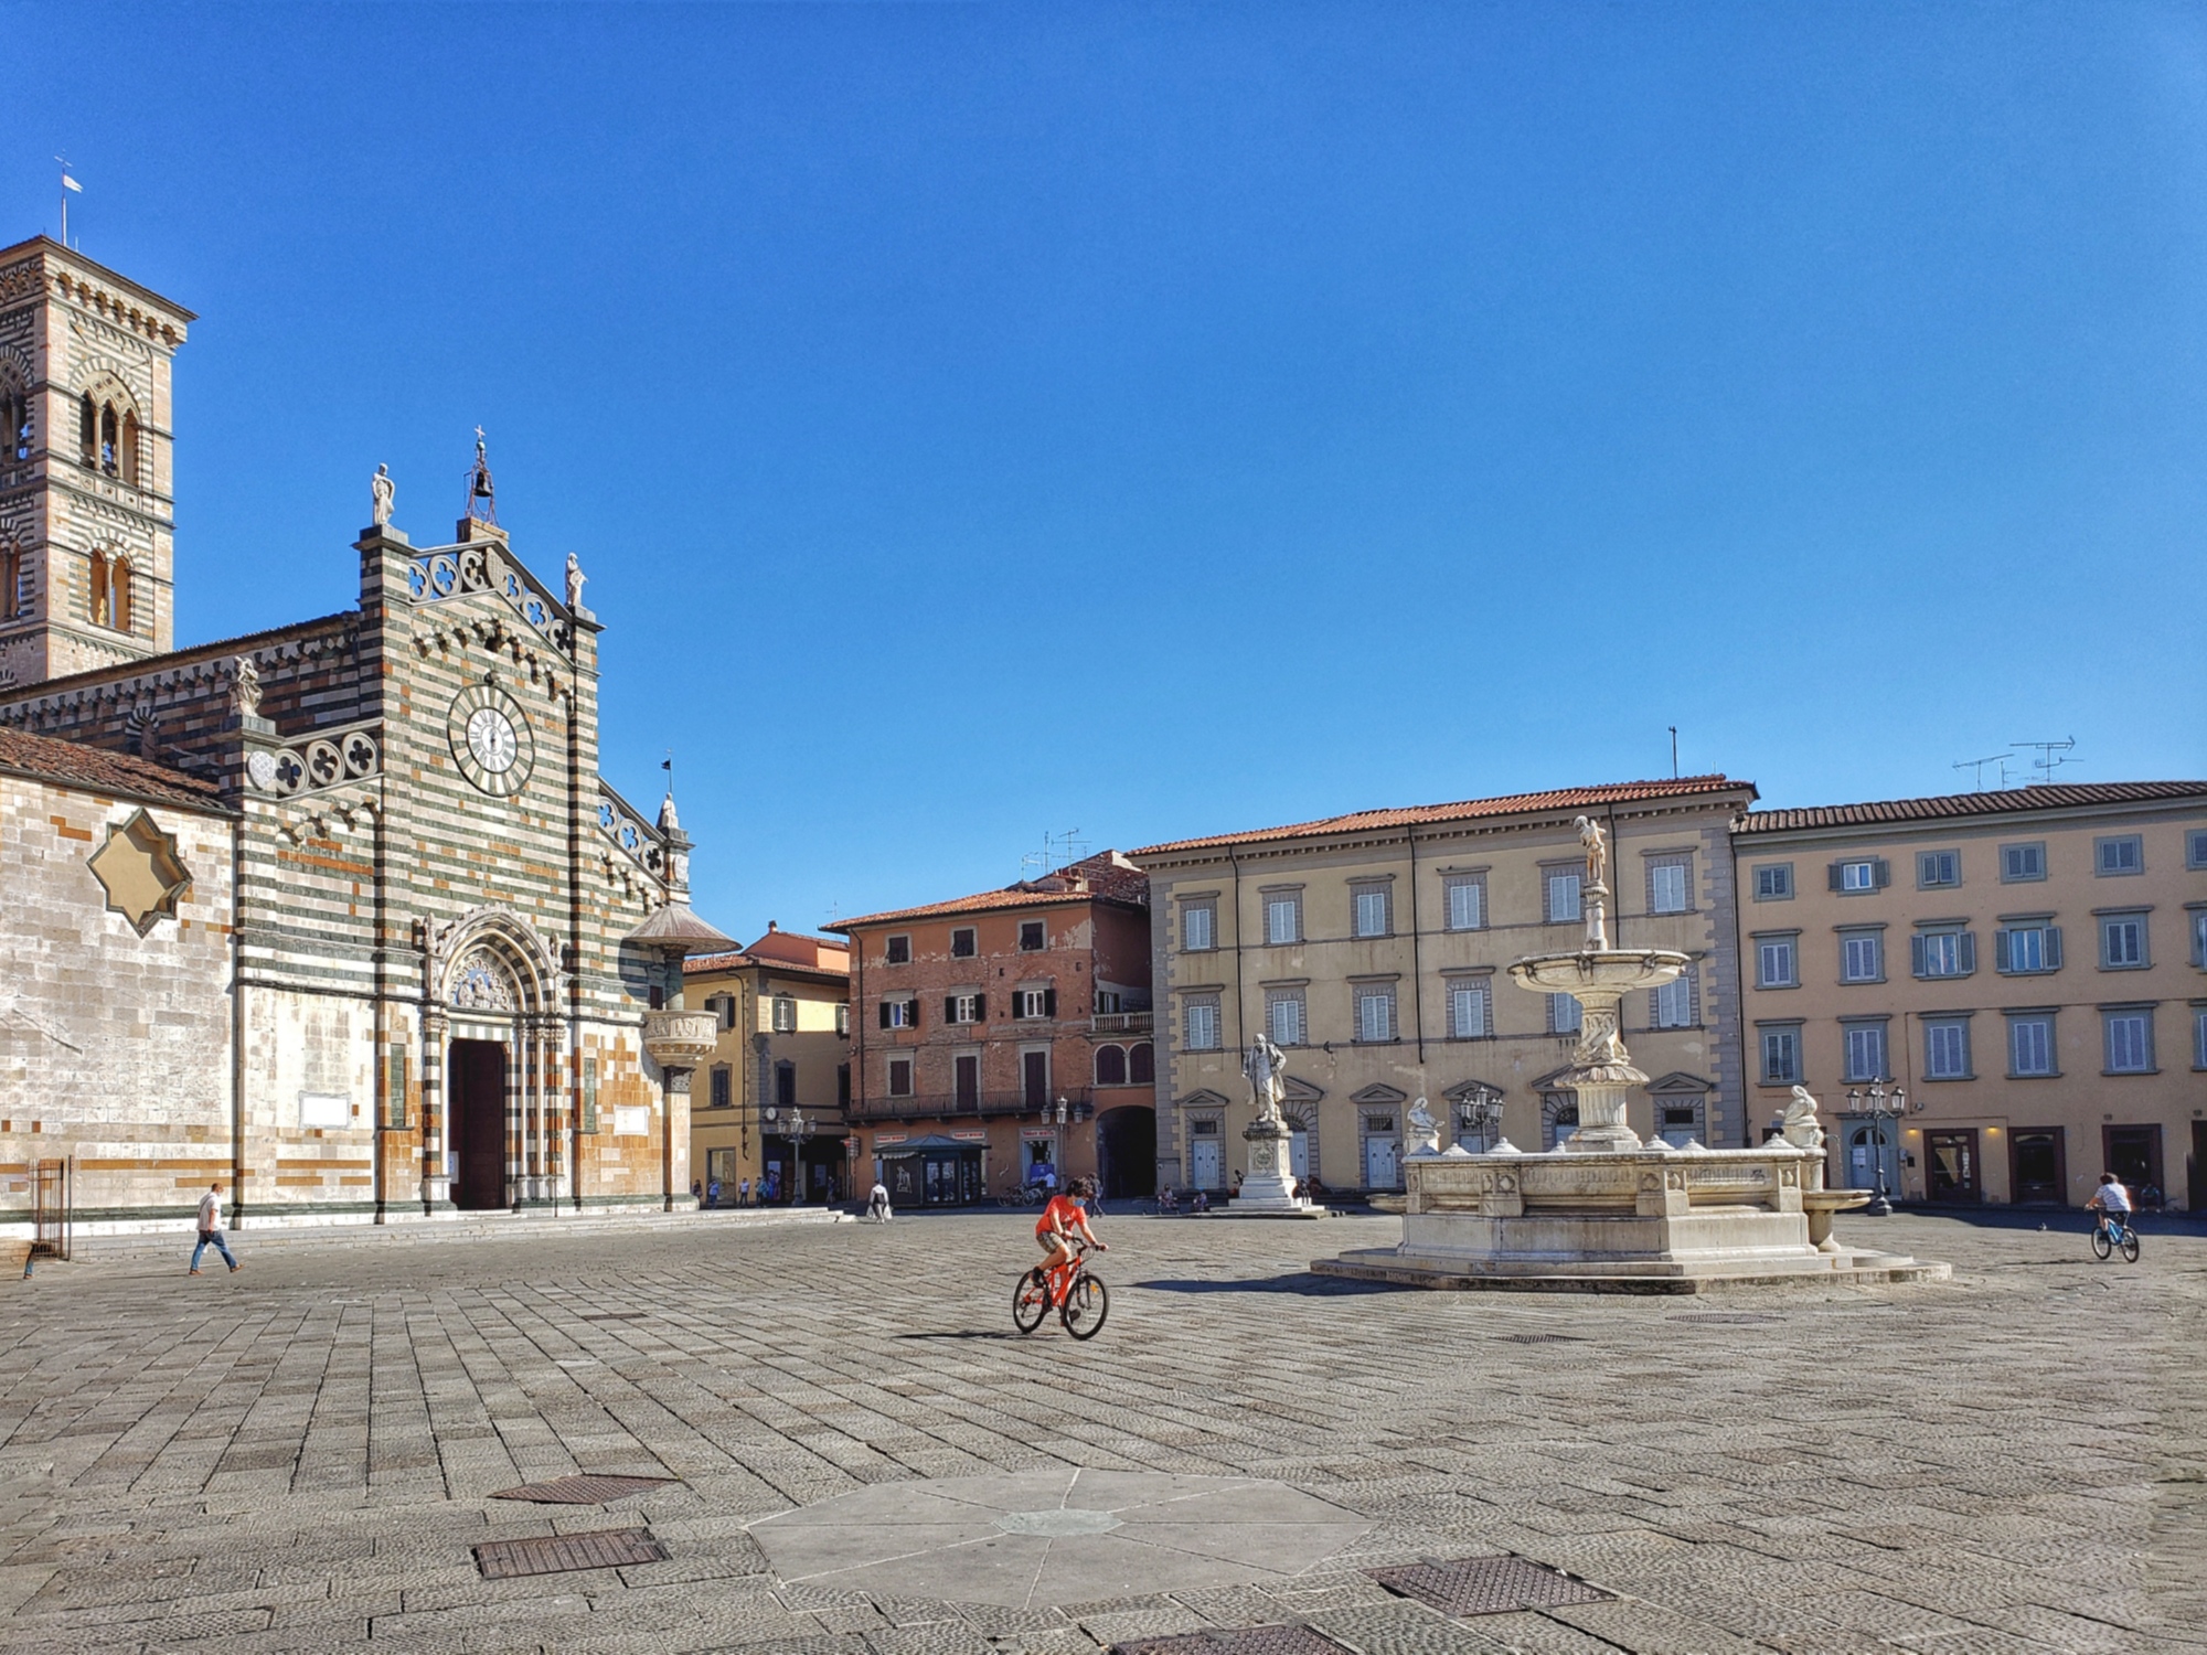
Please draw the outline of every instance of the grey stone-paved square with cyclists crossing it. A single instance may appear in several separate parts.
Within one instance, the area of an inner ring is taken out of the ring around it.
[[[1011,1328],[1028,1225],[42,1264],[0,1311],[0,1648],[2207,1651],[2198,1234],[1841,1220],[1955,1280],[1671,1300],[1309,1275],[1390,1218],[1106,1216],[1075,1344]],[[680,1481],[490,1498],[583,1472]],[[664,1562],[472,1553],[640,1527]],[[1485,1553],[1611,1598],[1450,1620],[1364,1573]]]

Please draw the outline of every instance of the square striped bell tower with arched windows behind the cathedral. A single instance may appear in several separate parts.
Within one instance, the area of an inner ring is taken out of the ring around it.
[[[0,249],[0,688],[174,649],[188,309],[49,236]]]

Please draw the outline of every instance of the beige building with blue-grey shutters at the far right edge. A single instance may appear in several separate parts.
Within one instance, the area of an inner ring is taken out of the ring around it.
[[[1735,863],[1755,1110],[1808,1086],[1834,1185],[2207,1207],[2207,781],[1759,810]]]

